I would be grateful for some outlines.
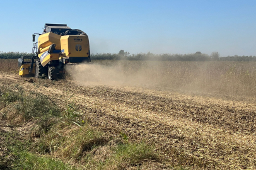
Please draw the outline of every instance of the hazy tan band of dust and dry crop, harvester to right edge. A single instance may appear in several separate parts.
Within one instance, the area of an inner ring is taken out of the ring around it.
[[[67,65],[85,86],[136,86],[255,97],[256,69],[242,62],[96,60]]]

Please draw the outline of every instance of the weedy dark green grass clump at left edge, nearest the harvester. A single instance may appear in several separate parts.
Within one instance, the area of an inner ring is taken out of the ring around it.
[[[8,106],[8,119],[13,124],[37,120],[39,131],[46,133],[61,117],[62,110],[51,99],[40,93],[26,92],[21,86],[1,86],[0,88],[1,108]],[[12,110],[12,113],[10,113]],[[6,113],[3,114],[6,116]],[[55,119],[54,119],[55,118]]]

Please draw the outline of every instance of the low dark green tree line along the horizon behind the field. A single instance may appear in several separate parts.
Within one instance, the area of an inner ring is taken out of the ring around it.
[[[0,52],[0,59],[18,59],[21,56],[33,55],[32,53],[26,52]],[[179,60],[179,61],[211,61],[211,60],[221,60],[221,61],[256,61],[256,56],[228,56],[220,57],[218,52],[212,52],[211,55],[202,54],[201,52],[196,52],[194,54],[153,54],[148,52],[147,54],[130,54],[124,50],[120,50],[119,53],[110,54],[91,54],[92,60]]]

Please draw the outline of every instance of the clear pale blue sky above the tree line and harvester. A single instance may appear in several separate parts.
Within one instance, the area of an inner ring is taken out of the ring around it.
[[[92,53],[256,55],[255,0],[0,0],[0,51],[32,52],[45,23],[83,30]]]

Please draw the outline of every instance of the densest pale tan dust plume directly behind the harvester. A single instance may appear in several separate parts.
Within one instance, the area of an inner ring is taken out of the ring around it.
[[[81,85],[153,86],[156,85],[156,75],[152,74],[148,66],[146,62],[105,61],[67,65],[67,72],[71,79]]]

